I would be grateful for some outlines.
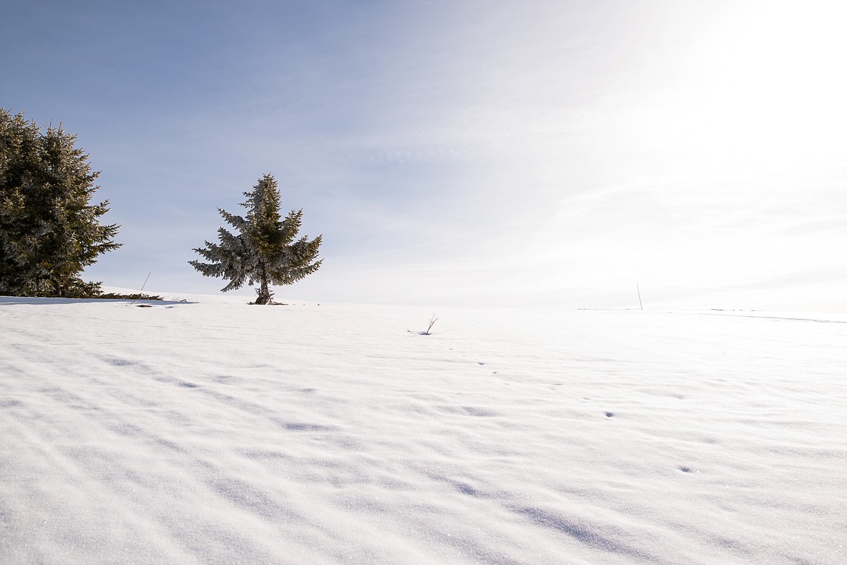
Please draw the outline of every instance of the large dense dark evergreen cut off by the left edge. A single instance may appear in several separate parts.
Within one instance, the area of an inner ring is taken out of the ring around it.
[[[119,226],[102,226],[108,200],[76,136],[59,124],[46,132],[23,113],[0,108],[0,294],[87,296],[99,282],[80,272],[114,250]]]

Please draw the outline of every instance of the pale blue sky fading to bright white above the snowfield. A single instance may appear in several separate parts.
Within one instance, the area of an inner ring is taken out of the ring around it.
[[[847,310],[841,2],[3,3],[0,106],[61,121],[124,247],[186,261],[263,173],[324,234],[279,297]],[[252,295],[247,288],[246,295]]]

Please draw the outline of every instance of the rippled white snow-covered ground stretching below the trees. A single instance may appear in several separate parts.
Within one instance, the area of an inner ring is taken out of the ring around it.
[[[847,562],[844,316],[198,299],[0,299],[4,565]]]

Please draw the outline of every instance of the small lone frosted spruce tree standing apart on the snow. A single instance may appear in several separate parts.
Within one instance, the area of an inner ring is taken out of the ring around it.
[[[230,281],[222,292],[241,288],[246,282],[259,288],[255,304],[272,304],[274,293],[268,285],[297,282],[318,270],[323,260],[318,258],[321,236],[296,239],[302,225],[303,211],[290,211],[280,219],[280,190],[270,174],[259,178],[252,192],[245,192],[247,216],[235,216],[218,209],[224,220],[238,233],[219,228],[219,244],[206,242],[205,248],[195,249],[208,263],[189,261],[204,277],[224,277]]]

